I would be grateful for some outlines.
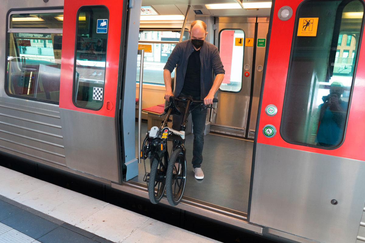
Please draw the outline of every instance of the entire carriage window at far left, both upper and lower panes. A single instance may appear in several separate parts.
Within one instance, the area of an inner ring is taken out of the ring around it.
[[[54,16],[63,16],[63,13],[10,15],[10,26],[13,29],[8,30],[7,36],[8,63],[5,84],[9,95],[51,103],[59,102],[62,34],[52,32],[51,27],[55,30],[62,29],[62,20],[49,21],[55,19]],[[43,25],[35,22],[42,22]],[[37,30],[34,30],[37,27],[49,29],[49,33],[37,33]],[[29,29],[30,32],[20,33],[17,29]]]

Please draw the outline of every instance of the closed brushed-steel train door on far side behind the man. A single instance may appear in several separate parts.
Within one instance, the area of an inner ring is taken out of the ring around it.
[[[226,74],[217,94],[219,104],[211,115],[211,132],[253,138],[269,18],[217,19],[218,48]]]

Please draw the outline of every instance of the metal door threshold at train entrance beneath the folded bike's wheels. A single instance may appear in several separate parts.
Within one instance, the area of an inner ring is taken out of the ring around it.
[[[112,188],[118,189],[123,192],[131,193],[136,196],[149,199],[147,186],[145,184],[137,183],[134,181],[124,182],[123,184],[111,183]],[[162,204],[170,205],[164,195],[160,201]],[[247,222],[247,213],[239,212],[233,209],[224,208],[215,204],[206,203],[197,199],[183,196],[181,202],[176,208],[186,210],[188,212],[196,213],[201,216],[215,219],[220,222],[232,224],[234,226],[244,228],[246,230],[254,231],[258,234],[263,233],[263,226],[251,224]]]

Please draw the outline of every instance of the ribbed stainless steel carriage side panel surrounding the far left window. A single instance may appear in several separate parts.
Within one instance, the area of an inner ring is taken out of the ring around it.
[[[3,23],[12,8],[40,8],[62,6],[63,0],[44,1],[4,1],[0,9]],[[6,33],[7,26],[0,25],[0,31]],[[6,35],[0,35],[0,55],[6,56]],[[7,61],[0,59],[0,66]],[[5,69],[0,68],[0,150],[50,166],[65,166],[65,153],[62,140],[61,121],[58,105],[28,101],[8,97],[5,93]]]

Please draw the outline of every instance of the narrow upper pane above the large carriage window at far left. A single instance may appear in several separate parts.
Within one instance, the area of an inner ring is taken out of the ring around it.
[[[9,18],[9,28],[62,29],[64,13],[14,13]],[[13,31],[12,31],[13,32]]]

